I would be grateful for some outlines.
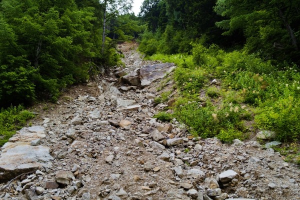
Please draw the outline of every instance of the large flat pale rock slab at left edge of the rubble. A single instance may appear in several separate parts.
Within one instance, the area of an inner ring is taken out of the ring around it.
[[[1,147],[0,182],[10,180],[24,172],[36,170],[53,159],[48,147],[30,145],[31,141],[45,136],[43,126],[24,127]]]

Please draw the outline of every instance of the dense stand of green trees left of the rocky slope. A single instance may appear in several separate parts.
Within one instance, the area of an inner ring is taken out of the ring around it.
[[[115,40],[144,26],[130,0],[1,0],[0,107],[55,101],[68,85],[119,64]]]

